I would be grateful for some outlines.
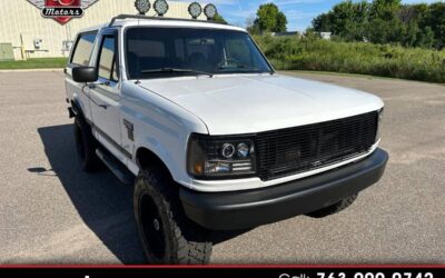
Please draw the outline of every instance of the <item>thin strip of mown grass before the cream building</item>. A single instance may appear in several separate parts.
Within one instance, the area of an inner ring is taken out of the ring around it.
[[[67,58],[37,58],[26,61],[1,61],[0,70],[13,69],[59,69],[67,66]]]

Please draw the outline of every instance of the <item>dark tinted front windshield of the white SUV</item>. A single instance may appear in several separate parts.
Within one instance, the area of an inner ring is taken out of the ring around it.
[[[129,79],[273,71],[251,38],[240,31],[131,28],[126,52]]]

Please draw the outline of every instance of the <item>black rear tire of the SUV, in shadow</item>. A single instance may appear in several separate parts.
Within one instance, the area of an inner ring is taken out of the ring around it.
[[[87,172],[99,170],[102,166],[100,159],[96,155],[96,149],[99,147],[99,143],[91,133],[91,127],[81,116],[77,116],[75,119],[75,139],[82,169]]]

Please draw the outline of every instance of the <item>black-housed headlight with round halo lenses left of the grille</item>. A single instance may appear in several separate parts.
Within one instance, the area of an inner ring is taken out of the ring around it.
[[[187,169],[198,179],[251,177],[256,173],[254,141],[249,138],[191,135]]]

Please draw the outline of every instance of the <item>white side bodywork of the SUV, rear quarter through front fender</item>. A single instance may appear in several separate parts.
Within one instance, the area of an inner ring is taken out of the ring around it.
[[[97,66],[101,37],[108,31],[98,31],[90,67]],[[138,173],[136,155],[145,148],[164,161],[176,181],[191,185],[186,171],[188,137],[191,132],[208,133],[208,129],[186,109],[127,80],[121,30],[118,37],[119,82],[105,86],[99,79],[89,86],[77,83],[72,68],[78,64],[70,63],[66,69],[67,98],[79,106],[99,142],[131,172]]]

